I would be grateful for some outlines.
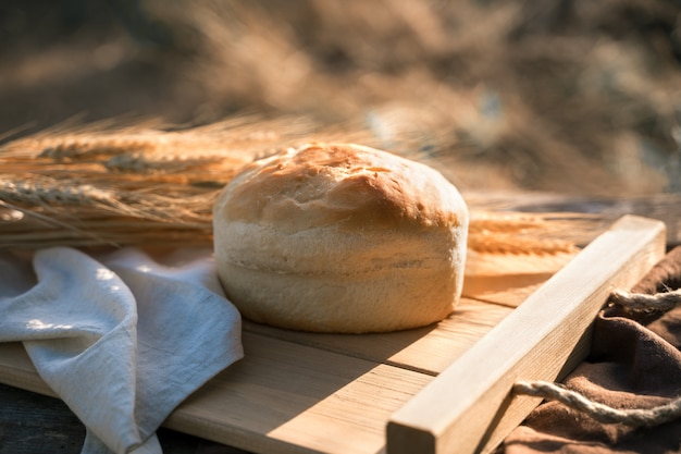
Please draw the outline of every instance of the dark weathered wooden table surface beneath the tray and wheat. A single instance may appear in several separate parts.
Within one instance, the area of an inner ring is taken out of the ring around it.
[[[681,196],[587,198],[549,194],[468,194],[472,207],[524,212],[578,212],[589,216],[587,242],[623,214],[659,219],[667,224],[668,245],[681,244]],[[579,240],[579,238],[578,238]],[[244,454],[245,451],[161,428],[164,454]],[[85,429],[58,398],[0,384],[0,454],[78,454]]]

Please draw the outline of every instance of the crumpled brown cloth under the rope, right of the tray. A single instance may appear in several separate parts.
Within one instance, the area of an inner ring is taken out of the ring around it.
[[[632,292],[681,287],[681,247]],[[632,315],[619,307],[597,317],[590,356],[564,384],[615,408],[651,408],[681,395],[681,306]],[[540,405],[504,441],[505,454],[681,453],[681,419],[654,428],[605,425],[558,402]]]

